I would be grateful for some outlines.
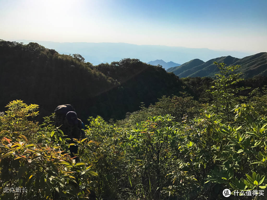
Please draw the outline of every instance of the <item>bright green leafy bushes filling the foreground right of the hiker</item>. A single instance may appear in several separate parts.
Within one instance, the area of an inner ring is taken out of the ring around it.
[[[254,113],[251,121],[245,107],[233,110],[243,119],[237,127],[213,113],[183,122],[149,117],[132,129],[91,118],[87,134],[96,141],[90,156],[101,174],[101,197],[222,199],[229,187],[264,190],[267,118]]]

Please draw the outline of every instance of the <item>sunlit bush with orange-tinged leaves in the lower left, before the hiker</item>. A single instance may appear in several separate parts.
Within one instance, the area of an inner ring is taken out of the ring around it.
[[[66,143],[67,138],[60,129],[52,129],[52,125],[41,129],[28,120],[37,115],[37,105],[27,106],[17,100],[7,107],[6,114],[0,117],[2,199],[83,199],[91,191],[97,192],[93,177],[98,175],[91,171],[93,165],[83,161],[75,163],[65,151],[76,144]],[[52,132],[45,131],[50,129]],[[37,142],[36,135],[39,140],[42,138],[41,142]],[[86,141],[77,141],[80,149],[89,149],[92,141]],[[22,187],[27,192],[3,193],[4,188]]]

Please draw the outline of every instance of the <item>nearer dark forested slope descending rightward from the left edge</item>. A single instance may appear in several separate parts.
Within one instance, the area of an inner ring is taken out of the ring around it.
[[[99,91],[119,85],[110,77],[88,67],[70,55],[58,54],[37,43],[23,45],[0,41],[1,110],[12,99],[37,102],[46,115],[55,106],[90,105]]]

